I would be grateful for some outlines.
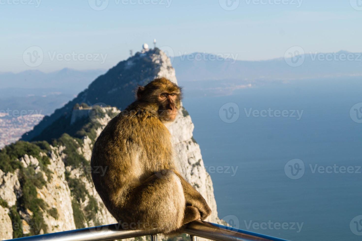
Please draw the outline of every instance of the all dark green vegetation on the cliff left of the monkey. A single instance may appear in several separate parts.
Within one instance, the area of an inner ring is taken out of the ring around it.
[[[85,105],[82,106],[86,107]],[[105,114],[113,118],[118,113],[113,113],[112,111],[96,113],[94,118],[104,117]],[[96,221],[99,209],[97,201],[89,194],[84,182],[81,180],[86,178],[87,181],[92,182],[89,172],[90,164],[78,152],[78,149],[83,146],[83,138],[85,136],[88,136],[94,143],[97,135],[96,130],[99,127],[101,127],[101,124],[97,121],[92,121],[89,117],[81,118],[73,123],[73,125],[70,125],[70,118],[61,117],[50,125],[47,131],[43,132],[42,136],[39,136],[38,140],[33,142],[17,141],[0,150],[0,169],[5,173],[14,173],[18,170],[17,176],[21,188],[21,195],[17,198],[14,206],[8,207],[7,202],[0,199],[0,205],[9,208],[9,217],[14,224],[14,238],[37,235],[41,233],[41,230],[47,233],[49,228],[43,218],[44,212],[54,217],[54,219],[58,219],[59,214],[56,208],[49,208],[44,200],[38,198],[37,195],[38,190],[47,184],[43,173],[48,181],[52,178],[52,172],[47,167],[50,164],[52,152],[52,147],[48,141],[52,141],[54,147],[65,147],[63,151],[65,154],[63,158],[64,165],[68,168],[70,167],[71,170],[78,169],[81,173],[79,178],[71,178],[70,174],[66,172],[66,180],[73,197],[72,208],[76,228],[84,228],[90,220],[93,223]],[[54,138],[54,136],[58,137]],[[19,160],[25,155],[37,158],[42,172],[39,173],[38,170],[35,170],[37,166],[31,163],[28,166],[23,166]],[[87,200],[87,205],[82,207],[81,203],[85,200]],[[29,215],[30,220],[27,220],[27,223],[29,224],[30,233],[28,234],[23,233],[24,227],[19,215],[20,211]]]

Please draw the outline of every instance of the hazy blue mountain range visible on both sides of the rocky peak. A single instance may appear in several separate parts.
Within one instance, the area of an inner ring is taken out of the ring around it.
[[[348,55],[353,58],[348,60]],[[298,67],[288,65],[284,58],[264,61],[218,60],[215,55],[200,52],[171,58],[171,62],[176,69],[178,82],[185,87],[186,96],[230,95],[235,90],[270,84],[270,81],[362,76],[361,53],[339,51],[306,53],[302,56],[304,62]],[[77,71],[69,68],[51,73],[0,72],[0,110],[35,109],[49,115],[103,73],[104,70]],[[207,81],[207,85],[203,81]]]

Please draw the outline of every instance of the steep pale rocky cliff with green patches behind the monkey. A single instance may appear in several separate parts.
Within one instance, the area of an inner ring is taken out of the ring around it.
[[[162,76],[177,83],[171,62],[162,51],[137,53],[98,77],[25,135],[33,142],[18,141],[0,151],[1,240],[115,222],[90,178],[94,140],[119,109],[134,100],[137,85]],[[72,118],[76,103],[93,107],[87,116]],[[193,139],[193,129],[185,109],[169,126],[181,173],[210,205],[212,214],[207,220],[219,223],[211,178]]]

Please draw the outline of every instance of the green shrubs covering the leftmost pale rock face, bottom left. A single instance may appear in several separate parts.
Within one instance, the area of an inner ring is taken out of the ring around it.
[[[18,179],[22,190],[22,195],[18,198],[16,205],[10,207],[9,216],[13,225],[13,236],[22,237],[22,223],[19,211],[28,213],[29,210],[31,227],[29,229],[29,235],[39,234],[41,229],[46,232],[47,226],[43,220],[43,211],[46,210],[44,201],[37,198],[37,188],[42,189],[46,185],[46,181],[43,178],[42,173],[35,171],[36,166],[29,164],[29,166],[23,166],[18,159],[28,155],[29,157],[35,157],[39,161],[39,166],[42,167],[42,171],[46,174],[48,179],[51,178],[51,171],[47,168],[50,164],[49,159],[50,146],[44,141],[29,143],[26,141],[17,141],[10,144],[0,150],[0,169],[3,172],[14,172],[19,170]]]

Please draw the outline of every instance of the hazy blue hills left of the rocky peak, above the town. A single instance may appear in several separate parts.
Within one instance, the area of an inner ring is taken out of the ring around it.
[[[0,111],[37,110],[49,115],[75,97],[105,70],[61,69],[44,73],[28,70],[0,72]]]

